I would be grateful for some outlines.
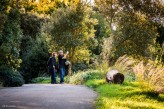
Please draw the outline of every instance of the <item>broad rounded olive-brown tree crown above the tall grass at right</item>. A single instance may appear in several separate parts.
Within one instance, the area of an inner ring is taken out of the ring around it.
[[[140,13],[123,16],[113,36],[113,57],[117,59],[124,54],[153,57],[158,36],[156,27]]]

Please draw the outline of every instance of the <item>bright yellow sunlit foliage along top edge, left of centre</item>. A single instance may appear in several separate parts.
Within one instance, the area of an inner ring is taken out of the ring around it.
[[[80,0],[23,0],[21,8],[25,12],[52,14],[56,8],[67,7],[79,3]]]

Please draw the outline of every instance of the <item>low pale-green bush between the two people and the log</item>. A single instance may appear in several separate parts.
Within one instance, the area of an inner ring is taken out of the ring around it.
[[[78,72],[70,77],[71,84],[83,84],[87,80],[104,79],[105,75],[98,70],[88,70],[85,72]]]

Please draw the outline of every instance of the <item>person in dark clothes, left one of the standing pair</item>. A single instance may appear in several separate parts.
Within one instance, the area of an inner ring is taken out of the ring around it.
[[[56,84],[56,72],[57,72],[57,67],[56,67],[56,56],[57,53],[53,52],[52,57],[48,59],[48,70],[51,75],[51,84]]]

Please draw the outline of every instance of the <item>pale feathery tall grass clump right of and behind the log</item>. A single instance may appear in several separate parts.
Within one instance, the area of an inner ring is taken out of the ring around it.
[[[154,61],[138,61],[132,57],[120,57],[111,69],[117,69],[126,80],[137,80],[143,89],[164,93],[164,66]]]

